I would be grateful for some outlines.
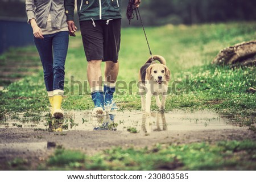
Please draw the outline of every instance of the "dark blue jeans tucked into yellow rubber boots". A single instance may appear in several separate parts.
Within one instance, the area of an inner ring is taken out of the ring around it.
[[[65,60],[68,52],[68,31],[43,35],[44,39],[34,38],[44,69],[46,90],[64,90]]]

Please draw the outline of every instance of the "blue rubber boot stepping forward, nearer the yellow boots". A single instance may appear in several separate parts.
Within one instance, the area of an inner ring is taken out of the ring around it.
[[[104,112],[104,92],[97,90],[91,93],[94,102],[94,109],[92,115],[105,115]]]

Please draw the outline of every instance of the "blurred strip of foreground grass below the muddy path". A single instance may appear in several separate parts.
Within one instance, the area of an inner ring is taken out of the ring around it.
[[[57,148],[40,163],[40,170],[255,170],[253,140],[217,143],[156,144],[152,148],[114,147],[93,156]],[[9,169],[31,169],[24,159],[8,163]]]

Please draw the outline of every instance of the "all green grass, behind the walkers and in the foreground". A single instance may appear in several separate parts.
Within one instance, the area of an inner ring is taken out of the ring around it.
[[[255,131],[256,95],[247,92],[249,87],[256,85],[255,67],[231,69],[210,64],[220,49],[243,41],[255,40],[255,29],[255,22],[147,27],[146,33],[152,52],[164,56],[171,69],[172,79],[169,84],[170,94],[167,97],[166,110],[212,109],[220,113],[233,113],[236,115],[234,122],[241,126],[249,126]],[[11,49],[1,55],[1,66],[4,67],[10,59],[19,60],[20,56],[15,55],[14,50],[22,53],[22,60],[26,60],[26,55],[32,53],[30,59],[39,61],[38,58],[33,57],[36,53],[35,47],[25,47]],[[142,29],[123,29],[119,55],[118,94],[115,94],[115,100],[121,110],[140,109],[136,81],[139,68],[148,57]],[[20,70],[23,69],[25,68]],[[104,64],[102,64],[103,71]],[[86,60],[81,36],[77,33],[76,38],[70,38],[65,64],[63,102],[65,110],[93,108],[86,80]],[[26,116],[24,120],[28,118],[40,120],[40,113],[47,111],[49,106],[42,68],[35,75],[23,77],[22,80],[5,86],[0,92],[0,105],[0,119],[4,125],[8,124],[5,123],[7,117],[18,120],[17,113],[23,111]],[[152,109],[157,109],[154,100]],[[72,121],[65,122],[65,125],[73,126]],[[130,132],[137,131],[130,129]],[[167,146],[159,144],[152,149],[112,148],[94,156],[59,148],[55,155],[39,166],[39,169],[255,170],[255,146],[255,141],[252,140]],[[23,165],[26,168],[27,162],[15,159],[9,164],[11,169]]]

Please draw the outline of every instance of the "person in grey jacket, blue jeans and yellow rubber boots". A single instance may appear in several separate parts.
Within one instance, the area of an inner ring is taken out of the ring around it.
[[[26,14],[43,65],[51,115],[61,118],[64,115],[61,103],[69,41],[64,0],[26,0]]]

